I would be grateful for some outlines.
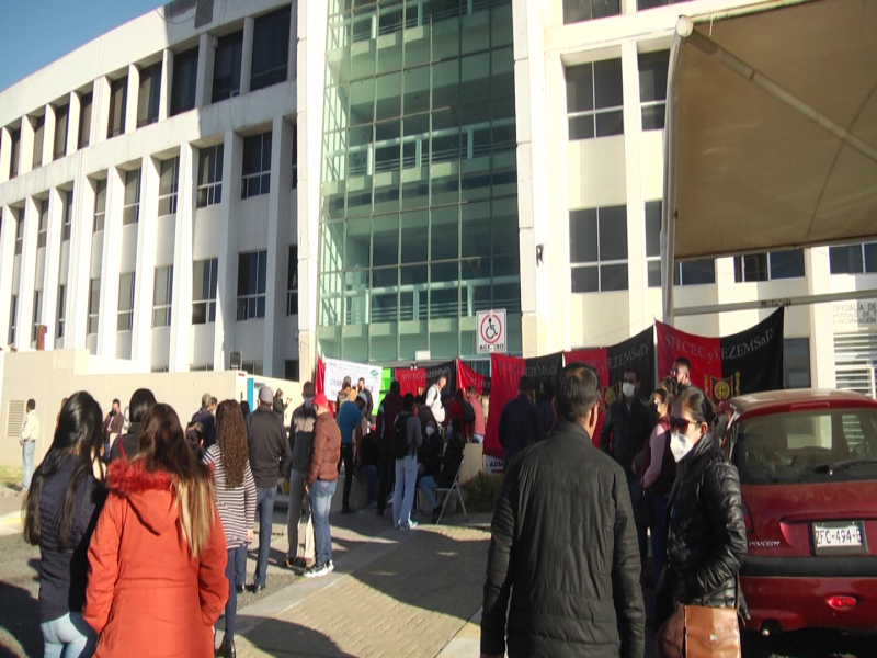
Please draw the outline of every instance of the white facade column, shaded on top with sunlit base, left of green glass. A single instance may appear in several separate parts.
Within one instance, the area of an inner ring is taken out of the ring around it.
[[[214,370],[228,368],[228,354],[235,347],[238,298],[238,224],[240,222],[240,179],[243,171],[243,138],[232,129],[225,134],[223,155],[223,204],[219,222],[219,272],[216,286],[214,325]],[[252,354],[244,354],[252,360]]]

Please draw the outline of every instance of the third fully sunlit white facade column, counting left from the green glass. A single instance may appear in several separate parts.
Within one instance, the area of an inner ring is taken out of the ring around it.
[[[118,277],[122,273],[119,246],[122,245],[122,207],[125,202],[124,177],[125,172],[114,167],[106,172],[106,215],[104,216],[101,256],[101,316],[98,327],[98,354],[109,359],[115,359],[116,355]]]

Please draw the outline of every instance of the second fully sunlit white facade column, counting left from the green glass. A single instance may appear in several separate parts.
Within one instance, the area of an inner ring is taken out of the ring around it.
[[[152,365],[152,299],[156,285],[156,229],[158,224],[158,162],[144,156],[140,163],[140,217],[137,220],[137,264],[134,277],[134,327],[130,359]]]

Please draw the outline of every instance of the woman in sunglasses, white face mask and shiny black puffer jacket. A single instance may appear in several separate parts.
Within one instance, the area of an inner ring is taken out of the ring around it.
[[[668,560],[656,594],[658,627],[679,614],[680,605],[738,608],[745,616],[737,587],[747,555],[740,476],[713,435],[711,421],[713,407],[698,388],[682,392],[672,405],[670,450],[679,475],[665,517]],[[659,631],[659,644],[670,626]]]

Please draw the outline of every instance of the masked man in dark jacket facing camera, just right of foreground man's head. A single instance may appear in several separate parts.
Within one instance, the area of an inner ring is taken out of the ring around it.
[[[622,396],[608,408],[603,430],[600,432],[600,450],[612,455],[627,476],[627,488],[634,509],[639,506],[641,489],[639,476],[634,472],[634,460],[649,439],[653,423],[649,409],[639,399],[639,374],[627,368],[622,384]],[[642,574],[647,574],[649,556],[648,524],[639,519],[637,540]]]

